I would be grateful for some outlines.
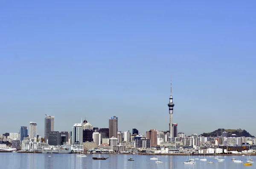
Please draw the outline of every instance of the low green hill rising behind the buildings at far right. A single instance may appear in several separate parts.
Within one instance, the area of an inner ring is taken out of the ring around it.
[[[221,136],[222,132],[228,132],[228,136],[231,136],[232,134],[236,134],[236,137],[254,137],[253,135],[250,135],[246,130],[243,129],[218,129],[210,133],[203,133],[201,136],[203,137],[217,137]]]

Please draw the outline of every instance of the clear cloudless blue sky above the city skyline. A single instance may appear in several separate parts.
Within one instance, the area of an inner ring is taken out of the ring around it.
[[[6,0],[0,5],[0,133],[55,115],[94,127],[255,131],[255,0]]]

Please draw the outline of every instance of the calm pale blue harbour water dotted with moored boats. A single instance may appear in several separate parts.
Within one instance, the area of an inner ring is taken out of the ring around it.
[[[234,163],[231,158],[243,160],[246,156],[220,156],[225,160],[218,162],[214,156],[205,156],[214,162],[208,164],[206,161],[195,160],[196,164],[183,164],[186,156],[158,156],[163,163],[155,163],[150,160],[149,155],[87,155],[77,157],[75,154],[22,154],[22,153],[0,153],[0,169],[256,169],[253,166],[244,166],[244,163]],[[93,160],[92,157],[109,157],[107,160]],[[134,161],[128,161],[129,158]],[[204,158],[204,156],[193,156],[193,158]],[[254,158],[254,156],[252,157]],[[254,159],[256,160],[256,159]]]

